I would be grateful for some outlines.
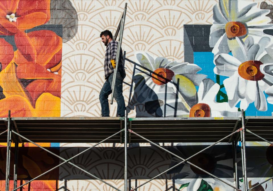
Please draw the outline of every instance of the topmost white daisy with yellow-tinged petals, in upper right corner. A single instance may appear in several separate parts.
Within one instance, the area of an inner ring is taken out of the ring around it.
[[[215,56],[229,53],[235,37],[245,40],[252,36],[257,43],[264,29],[271,28],[270,10],[262,10],[253,1],[219,0],[213,7],[213,24],[210,28],[210,46]]]

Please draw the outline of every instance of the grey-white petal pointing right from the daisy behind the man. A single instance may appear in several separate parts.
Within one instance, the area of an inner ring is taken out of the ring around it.
[[[174,66],[168,66],[167,69],[170,69],[175,74],[184,74],[184,73],[197,73],[198,71],[202,70],[196,64],[190,64],[187,62],[184,63],[177,63]]]

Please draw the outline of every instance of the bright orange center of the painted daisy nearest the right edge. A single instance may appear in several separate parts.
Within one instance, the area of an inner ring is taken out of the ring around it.
[[[264,74],[260,72],[260,65],[262,65],[262,62],[257,60],[246,61],[239,66],[239,75],[246,80],[262,80],[262,78],[264,78]]]

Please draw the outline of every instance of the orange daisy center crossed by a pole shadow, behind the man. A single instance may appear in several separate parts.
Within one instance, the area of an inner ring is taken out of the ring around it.
[[[152,73],[152,79],[155,84],[163,85],[167,84],[174,76],[174,72],[166,68],[157,68]]]

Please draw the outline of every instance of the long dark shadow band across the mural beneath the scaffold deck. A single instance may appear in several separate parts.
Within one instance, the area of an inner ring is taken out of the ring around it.
[[[206,148],[207,145],[182,145],[164,146],[167,150],[188,158],[198,151]],[[60,154],[64,159],[69,159],[81,151],[86,150],[84,147],[60,147],[47,148],[55,154]],[[124,148],[116,147],[96,147],[88,150],[83,154],[71,160],[78,167],[85,169],[91,174],[103,180],[123,180],[124,179]],[[257,178],[253,182],[260,181],[263,177],[272,177],[272,146],[248,146],[247,148],[247,175],[248,178]],[[241,149],[237,147],[237,156],[241,156]],[[1,148],[1,181],[5,181],[5,152],[6,148]],[[13,153],[13,150],[12,150]],[[57,166],[61,160],[46,153],[44,150],[35,147],[19,148],[19,165],[18,165],[18,183],[22,185],[27,180],[30,180],[43,172]],[[11,155],[13,158],[14,155]],[[191,163],[201,167],[202,169],[212,173],[213,175],[233,181],[233,158],[231,145],[218,145],[209,148],[208,150],[196,155],[189,160]],[[238,174],[241,173],[241,159],[238,158]],[[161,172],[173,167],[181,162],[180,159],[170,155],[169,153],[155,148],[153,146],[141,147],[139,144],[129,144],[128,148],[128,179],[130,180],[147,180]],[[12,162],[13,166],[13,162]],[[11,175],[13,175],[11,168]],[[182,164],[171,171],[161,175],[157,179],[172,180],[177,184],[182,184],[183,181],[197,180],[198,178],[210,178],[197,168]],[[11,179],[13,177],[11,176]],[[73,167],[69,164],[64,164],[39,178],[37,182],[30,185],[46,184],[57,188],[57,180],[64,181],[60,189],[69,190],[65,186],[66,180],[91,180],[89,175]],[[40,182],[40,183],[39,183]],[[28,188],[27,186],[25,186]]]

